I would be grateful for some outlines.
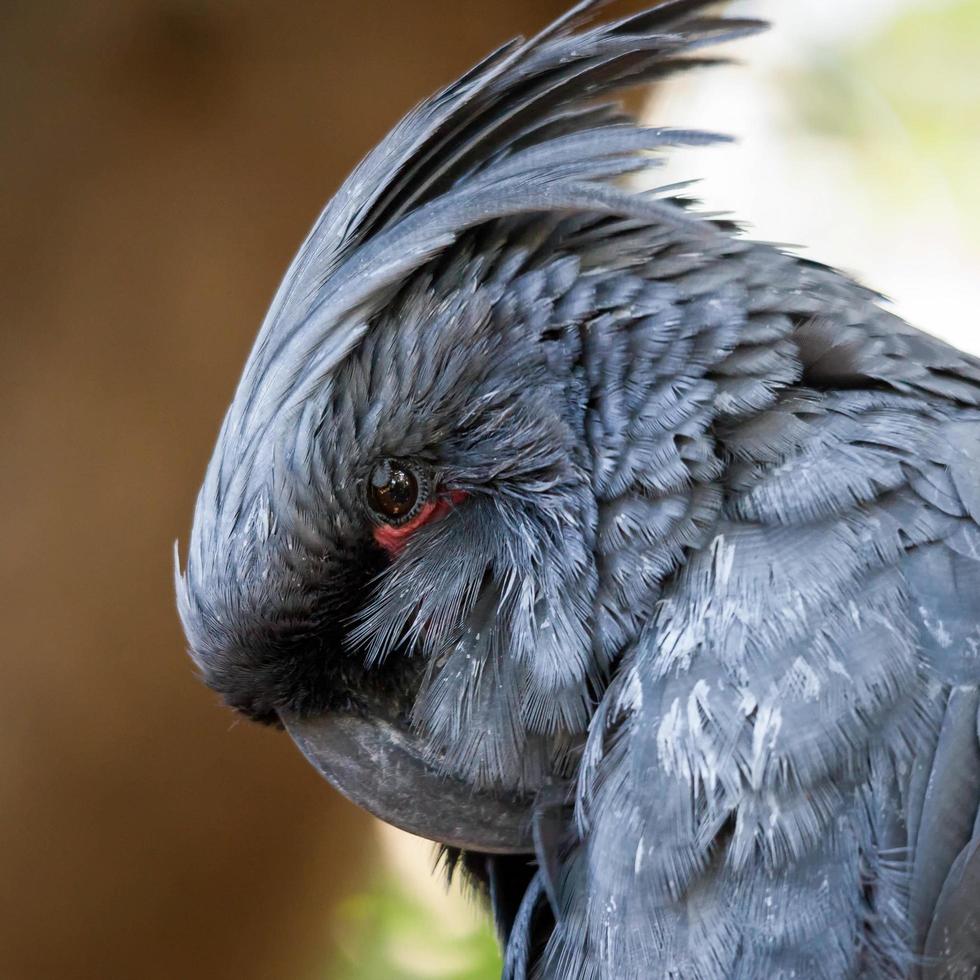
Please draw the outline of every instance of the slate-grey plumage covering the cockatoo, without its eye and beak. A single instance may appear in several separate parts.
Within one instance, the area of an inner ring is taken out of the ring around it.
[[[515,980],[975,977],[980,362],[616,183],[715,137],[602,100],[759,25],[598,6],[314,226],[198,500],[192,653],[263,720],[383,690],[427,764],[529,801],[537,871],[461,859]],[[388,555],[387,457],[453,501]]]

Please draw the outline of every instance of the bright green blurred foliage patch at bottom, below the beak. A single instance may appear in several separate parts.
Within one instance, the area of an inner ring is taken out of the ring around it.
[[[462,901],[462,899],[461,899]],[[501,963],[488,917],[440,921],[385,880],[345,902],[335,921],[340,956],[330,980],[497,980]]]

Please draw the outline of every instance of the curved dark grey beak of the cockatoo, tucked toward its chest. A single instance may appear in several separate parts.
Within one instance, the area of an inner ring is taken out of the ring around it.
[[[444,775],[406,724],[371,708],[282,721],[335,789],[386,823],[464,850],[533,853],[533,798],[474,790]]]

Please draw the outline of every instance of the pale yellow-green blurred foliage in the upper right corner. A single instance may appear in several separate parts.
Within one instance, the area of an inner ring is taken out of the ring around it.
[[[980,3],[929,3],[823,50],[787,79],[787,94],[808,129],[855,151],[872,192],[943,194],[980,241],[978,60]]]

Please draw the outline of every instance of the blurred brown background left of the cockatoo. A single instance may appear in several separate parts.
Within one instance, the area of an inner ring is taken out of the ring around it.
[[[194,679],[172,544],[279,276],[562,0],[0,5],[0,977],[325,976],[367,821]]]

